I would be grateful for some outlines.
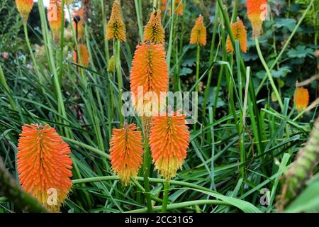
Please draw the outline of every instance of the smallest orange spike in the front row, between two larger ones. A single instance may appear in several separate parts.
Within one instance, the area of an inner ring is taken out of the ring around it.
[[[110,142],[111,165],[123,183],[138,176],[142,164],[142,133],[137,131],[135,123],[125,124],[121,129],[113,129]]]

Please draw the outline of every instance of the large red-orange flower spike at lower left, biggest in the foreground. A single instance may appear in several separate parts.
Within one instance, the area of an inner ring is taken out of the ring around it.
[[[24,125],[20,134],[17,166],[21,186],[52,212],[59,212],[72,187],[69,145],[55,128]]]

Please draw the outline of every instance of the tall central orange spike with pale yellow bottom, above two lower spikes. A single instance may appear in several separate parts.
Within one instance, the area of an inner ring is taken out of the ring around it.
[[[138,45],[130,72],[130,91],[133,95],[133,105],[137,108],[140,116],[144,114],[151,116],[152,111],[158,112],[160,110],[166,96],[164,92],[168,90],[168,82],[164,45],[149,42]],[[149,95],[148,97],[145,97],[146,93]],[[151,106],[148,106],[150,104]],[[152,104],[160,106],[156,106],[157,109],[155,109]],[[146,109],[147,111],[145,111]]]

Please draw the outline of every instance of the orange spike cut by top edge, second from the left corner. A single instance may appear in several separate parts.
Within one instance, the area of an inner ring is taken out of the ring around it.
[[[62,6],[60,1],[50,0],[50,5],[47,8],[47,21],[49,21],[50,28],[53,34],[53,39],[55,41],[59,40],[60,38],[60,31],[62,28],[61,19],[62,19]]]

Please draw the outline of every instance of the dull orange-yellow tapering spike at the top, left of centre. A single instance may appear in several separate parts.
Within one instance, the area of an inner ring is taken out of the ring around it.
[[[125,24],[121,17],[121,5],[118,1],[113,3],[111,18],[106,27],[106,39],[111,40],[113,38],[122,42],[126,40]]]

